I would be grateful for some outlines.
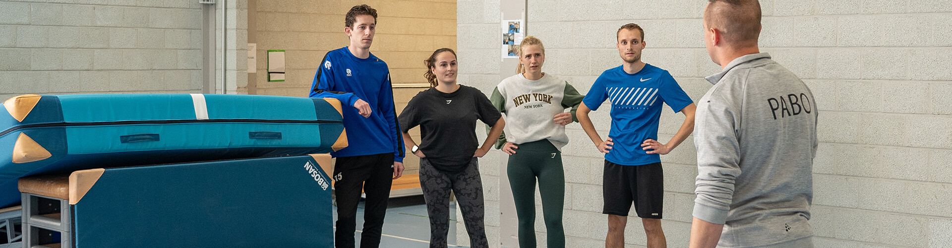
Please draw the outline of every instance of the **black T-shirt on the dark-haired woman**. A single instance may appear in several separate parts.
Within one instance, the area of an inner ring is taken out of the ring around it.
[[[417,93],[399,119],[405,133],[420,126],[420,151],[434,168],[461,172],[480,145],[476,140],[476,120],[492,126],[502,116],[486,94],[461,85],[453,93],[435,88]]]

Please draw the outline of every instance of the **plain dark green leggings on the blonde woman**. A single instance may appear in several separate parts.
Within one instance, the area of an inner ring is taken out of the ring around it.
[[[535,182],[539,179],[542,213],[548,247],[565,247],[562,207],[565,202],[565,172],[562,153],[547,139],[516,144],[509,155],[507,174],[519,217],[519,247],[536,247]]]

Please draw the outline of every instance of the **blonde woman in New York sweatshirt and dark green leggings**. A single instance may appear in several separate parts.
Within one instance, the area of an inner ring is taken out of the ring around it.
[[[507,174],[519,217],[519,247],[536,247],[535,183],[539,181],[548,247],[565,247],[562,206],[565,173],[562,147],[568,143],[565,125],[576,120],[575,110],[585,95],[554,75],[542,72],[545,47],[526,36],[519,45],[516,75],[496,86],[489,98],[506,114],[505,136],[496,148],[509,155]],[[565,109],[571,108],[566,113]],[[576,120],[577,121],[577,120]]]

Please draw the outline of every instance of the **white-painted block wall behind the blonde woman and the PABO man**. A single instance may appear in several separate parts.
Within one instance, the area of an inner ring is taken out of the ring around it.
[[[526,29],[545,43],[544,71],[586,93],[598,74],[621,64],[614,31],[640,24],[646,32],[645,62],[671,72],[697,100],[711,86],[703,77],[720,72],[704,50],[705,2],[529,0]],[[952,247],[952,2],[761,4],[762,51],[801,76],[821,110],[810,221],[817,247]],[[488,41],[499,35],[499,1],[462,0],[457,7],[460,81],[492,89],[500,58],[495,42]],[[661,138],[677,132],[683,118],[665,109]],[[593,120],[605,134],[607,113],[593,112]],[[602,156],[578,124],[569,125],[567,133],[572,141],[564,151],[566,244],[600,247],[606,228],[600,213]],[[685,247],[689,235],[697,176],[692,138],[662,156],[663,225],[671,247]],[[499,152],[490,155],[506,162]],[[495,224],[487,222],[487,228],[498,229]],[[631,218],[628,227],[625,241],[645,245],[638,219]],[[537,231],[544,242],[542,223]]]

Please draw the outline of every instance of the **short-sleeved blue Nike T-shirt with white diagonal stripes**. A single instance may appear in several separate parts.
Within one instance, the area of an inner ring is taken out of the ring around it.
[[[675,113],[694,103],[671,73],[648,64],[634,74],[621,66],[605,70],[582,102],[596,111],[605,99],[611,102],[608,137],[615,143],[605,160],[620,165],[661,162],[660,155],[645,154],[642,142],[648,138],[658,140],[662,103],[667,103]]]

